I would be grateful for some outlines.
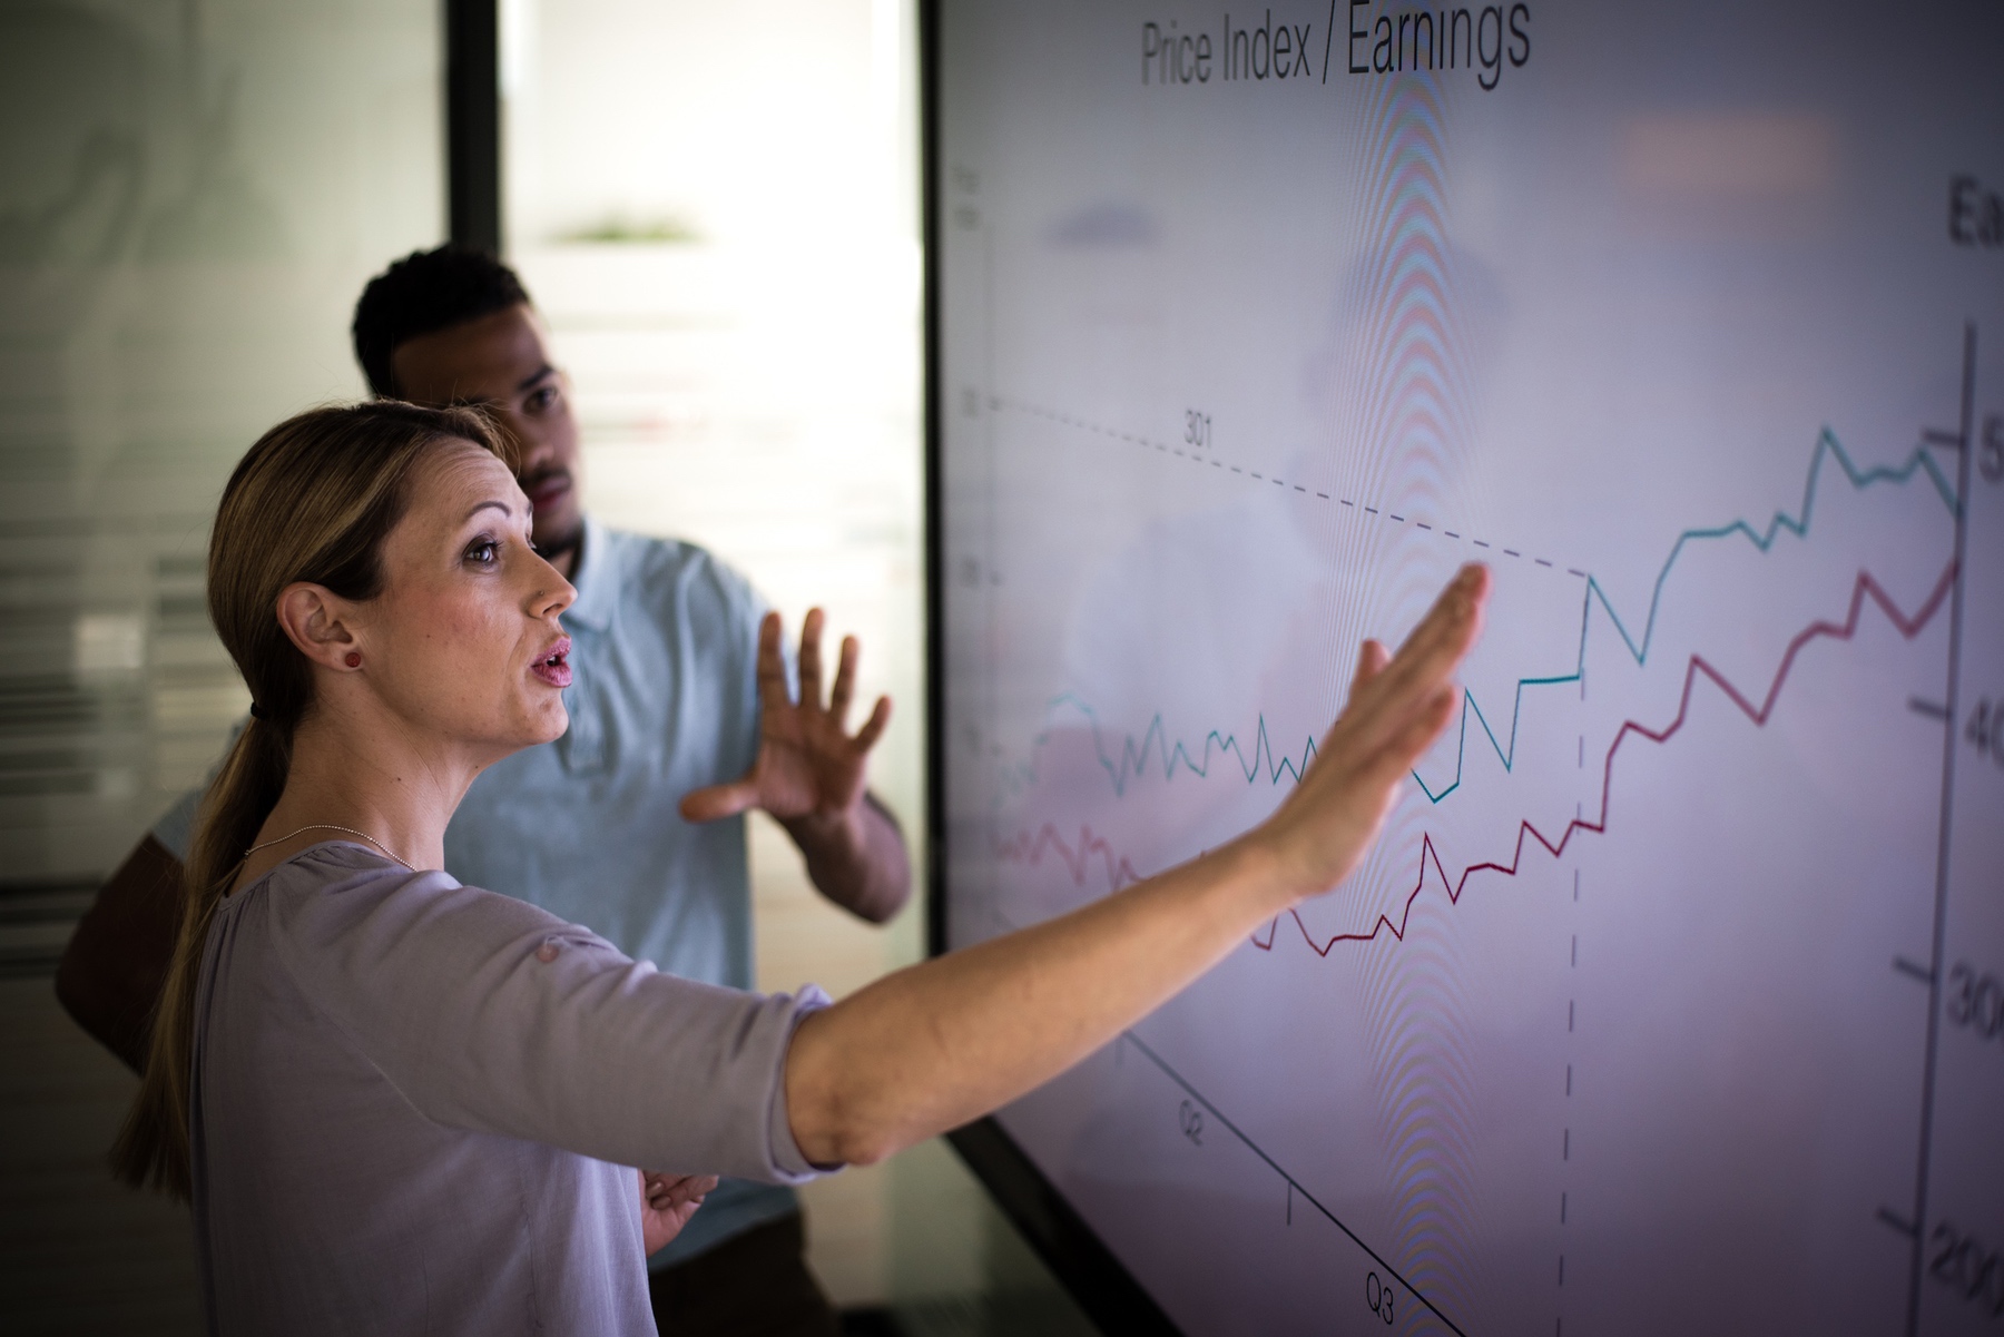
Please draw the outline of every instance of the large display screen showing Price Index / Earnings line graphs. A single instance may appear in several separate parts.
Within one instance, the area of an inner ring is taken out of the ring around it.
[[[998,1115],[1188,1333],[2004,1333],[2004,8],[940,0],[942,946],[1383,840]]]

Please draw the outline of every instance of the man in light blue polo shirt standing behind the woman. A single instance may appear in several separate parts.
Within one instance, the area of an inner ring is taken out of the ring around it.
[[[822,708],[822,617],[808,615],[796,704],[778,676],[758,682],[760,639],[776,643],[780,627],[741,577],[687,543],[583,515],[565,381],[513,271],[457,247],[399,261],[363,291],[355,353],[379,397],[481,405],[495,417],[519,451],[535,543],[577,585],[563,615],[569,732],[473,784],[447,830],[447,870],[585,924],[665,972],[749,988],[743,812],[758,806],[800,846],[824,896],[866,920],[894,916],[910,892],[904,838],[864,788],[888,702],[846,734],[854,639]],[[134,1068],[196,798],[132,850],[56,976],[70,1014]],[[649,1259],[661,1331],[834,1333],[802,1245],[792,1191],[725,1181]]]

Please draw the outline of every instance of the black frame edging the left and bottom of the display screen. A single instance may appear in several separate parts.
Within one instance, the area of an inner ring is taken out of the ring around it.
[[[924,431],[926,431],[926,954],[946,932],[946,553],[942,507],[944,401],[940,389],[940,2],[918,0],[920,200],[924,210]],[[1114,1257],[1056,1185],[996,1119],[946,1135],[962,1163],[1102,1331],[1180,1329]]]

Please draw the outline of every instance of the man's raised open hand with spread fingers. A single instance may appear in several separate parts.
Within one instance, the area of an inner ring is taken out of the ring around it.
[[[780,653],[780,613],[766,613],[758,633],[760,748],[737,780],[695,790],[681,800],[689,822],[715,822],[747,808],[780,820],[840,820],[864,798],[864,762],[890,724],[890,698],[880,696],[870,718],[848,734],[856,694],[856,637],[842,637],[836,682],[822,704],[822,609],[810,609],[800,629],[800,702],[786,692]]]

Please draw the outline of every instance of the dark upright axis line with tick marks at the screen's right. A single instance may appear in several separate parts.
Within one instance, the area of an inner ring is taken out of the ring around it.
[[[1936,437],[1936,441],[1940,441]],[[1948,445],[1948,441],[1940,441]],[[1934,848],[1934,952],[1928,958],[1928,1056],[1920,1076],[1920,1163],[1914,1173],[1914,1261],[1906,1281],[1906,1337],[1920,1335],[1922,1245],[1934,1153],[1934,1060],[1942,1036],[1942,936],[1948,928],[1948,846],[1956,812],[1956,724],[1962,720],[1962,585],[1970,537],[1970,457],[1976,453],[1976,323],[1962,327],[1962,423],[1956,433],[1956,583],[1948,603],[1948,718],[1942,722],[1942,824]]]

